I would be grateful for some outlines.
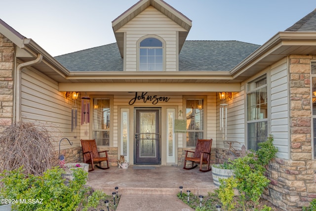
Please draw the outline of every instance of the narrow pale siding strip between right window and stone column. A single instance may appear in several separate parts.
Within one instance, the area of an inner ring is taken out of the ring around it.
[[[288,77],[286,58],[271,67],[271,134],[278,158],[289,158]]]

